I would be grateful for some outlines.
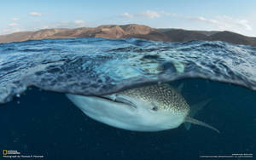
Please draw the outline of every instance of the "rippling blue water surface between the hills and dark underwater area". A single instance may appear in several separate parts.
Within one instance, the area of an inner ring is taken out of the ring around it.
[[[0,44],[0,103],[27,87],[101,95],[205,78],[256,90],[256,48],[220,41],[167,43],[76,38]]]

